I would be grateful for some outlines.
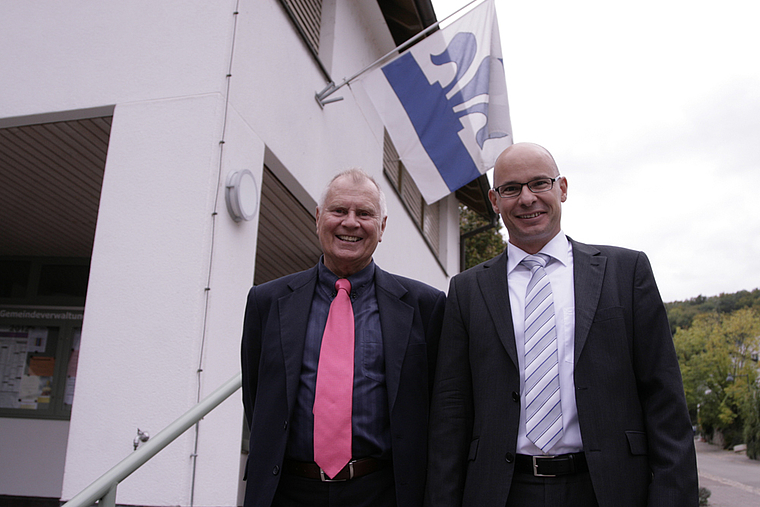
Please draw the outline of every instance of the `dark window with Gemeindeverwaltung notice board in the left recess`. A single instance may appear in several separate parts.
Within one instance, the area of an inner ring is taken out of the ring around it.
[[[89,269],[0,257],[0,417],[70,417]]]

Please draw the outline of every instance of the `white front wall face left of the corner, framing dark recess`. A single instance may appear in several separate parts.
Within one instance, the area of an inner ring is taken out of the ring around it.
[[[118,104],[90,276],[67,486],[62,480],[69,422],[3,419],[4,438],[13,435],[13,442],[6,441],[3,451],[10,452],[0,454],[0,494],[70,497],[131,452],[138,426],[158,431],[195,401],[215,190],[210,170],[218,169],[220,93],[233,7],[234,2],[200,1],[0,5],[0,44],[9,49],[0,52],[0,117]],[[239,435],[239,402],[228,403],[236,408],[230,427]],[[239,437],[233,443],[229,434],[235,462]],[[175,448],[180,450],[167,449],[156,458],[153,467],[161,471],[143,473],[160,484],[142,489],[150,492],[148,503],[187,503],[191,447],[180,441]],[[162,460],[171,465],[156,465]],[[184,489],[166,487],[175,483]],[[129,488],[125,483],[119,501],[138,501],[130,498]]]

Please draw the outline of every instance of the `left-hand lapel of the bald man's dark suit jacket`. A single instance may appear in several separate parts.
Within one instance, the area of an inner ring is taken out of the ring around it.
[[[486,262],[476,273],[478,286],[486,308],[496,326],[502,345],[517,366],[517,348],[515,346],[515,330],[512,325],[512,309],[509,305],[509,290],[507,288],[507,251]]]

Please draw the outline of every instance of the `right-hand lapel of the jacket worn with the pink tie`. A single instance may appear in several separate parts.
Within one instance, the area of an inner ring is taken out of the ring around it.
[[[380,311],[380,329],[385,353],[385,385],[388,406],[396,403],[401,366],[404,363],[409,334],[414,320],[414,308],[401,301],[407,290],[393,276],[375,266],[375,294]]]

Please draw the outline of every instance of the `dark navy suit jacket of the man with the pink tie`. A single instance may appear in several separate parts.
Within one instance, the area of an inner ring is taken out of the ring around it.
[[[243,404],[251,430],[245,506],[269,506],[295,404],[317,267],[253,287],[242,340]],[[422,505],[442,291],[375,266],[385,352],[396,497]],[[361,456],[358,456],[361,457]]]

